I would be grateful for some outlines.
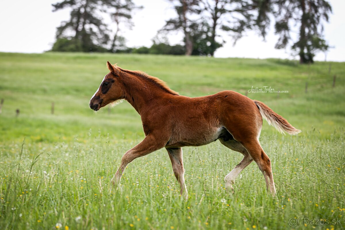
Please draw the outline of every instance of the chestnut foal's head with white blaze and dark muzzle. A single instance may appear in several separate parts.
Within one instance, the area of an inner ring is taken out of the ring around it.
[[[119,73],[116,67],[107,62],[110,72],[103,78],[98,90],[91,97],[90,108],[97,111],[107,104],[122,99],[122,88],[119,80]]]

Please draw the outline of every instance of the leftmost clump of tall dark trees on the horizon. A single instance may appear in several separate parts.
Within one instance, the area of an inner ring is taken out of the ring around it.
[[[53,11],[70,8],[70,19],[61,22],[57,28],[52,51],[101,52],[109,45],[110,32],[103,23],[101,13],[108,13],[116,23],[116,31],[110,42],[110,52],[126,49],[125,38],[119,34],[119,26],[124,23],[131,27],[131,11],[136,7],[132,0],[63,0],[52,4]],[[59,41],[59,39],[62,39]],[[71,42],[70,42],[71,41]],[[72,43],[75,42],[75,44]],[[63,46],[62,46],[62,43]],[[62,50],[59,50],[59,49]]]

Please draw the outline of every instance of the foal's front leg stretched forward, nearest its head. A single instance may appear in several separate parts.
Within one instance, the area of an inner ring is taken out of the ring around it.
[[[143,157],[151,152],[161,149],[166,142],[162,138],[157,138],[154,134],[147,135],[144,140],[137,144],[134,148],[128,150],[121,159],[121,164],[116,171],[114,177],[111,179],[111,184],[117,186],[124,173],[127,165],[138,157]]]

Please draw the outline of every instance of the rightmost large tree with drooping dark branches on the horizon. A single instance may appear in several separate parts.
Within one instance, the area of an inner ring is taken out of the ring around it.
[[[326,0],[266,1],[266,8],[276,9],[273,14],[276,18],[275,33],[279,35],[279,39],[275,48],[287,47],[293,40],[290,36],[292,26],[298,25],[298,39],[291,48],[298,52],[300,63],[313,63],[317,51],[325,52],[329,49],[329,45],[323,39],[322,22],[328,22],[328,14],[332,13],[332,7]]]

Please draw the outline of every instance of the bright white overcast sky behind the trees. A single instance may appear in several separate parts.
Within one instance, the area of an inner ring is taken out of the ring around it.
[[[56,27],[62,20],[69,19],[69,10],[52,12],[52,3],[57,0],[2,0],[0,1],[0,51],[41,53],[51,49],[55,41]],[[167,0],[134,0],[144,6],[134,14],[134,27],[126,30],[127,46],[151,46],[152,38],[162,28],[165,20],[175,15]],[[333,7],[330,22],[325,23],[325,39],[335,48],[327,52],[327,61],[345,61],[345,1],[329,0]],[[297,28],[296,28],[297,30]],[[180,34],[169,37],[172,44],[181,40]],[[247,32],[233,47],[230,37],[224,37],[226,44],[219,48],[215,57],[245,58],[295,58],[289,51],[276,50],[277,36],[273,28],[266,41],[255,32]],[[325,54],[317,53],[315,60],[324,61]]]

